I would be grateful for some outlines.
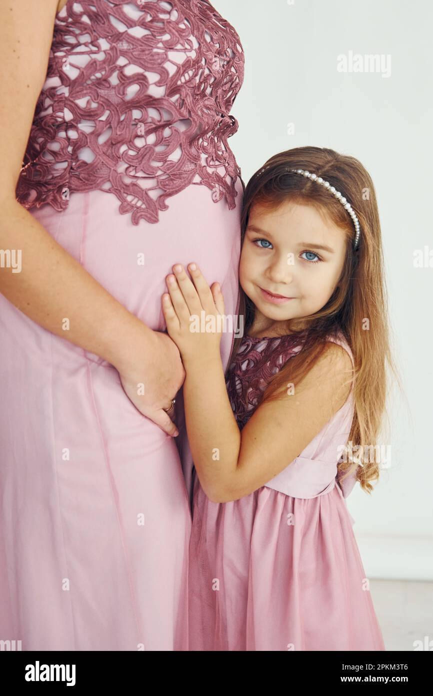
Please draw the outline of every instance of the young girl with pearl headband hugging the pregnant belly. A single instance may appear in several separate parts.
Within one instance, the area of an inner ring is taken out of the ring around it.
[[[218,283],[174,266],[162,300],[198,476],[190,650],[384,650],[345,501],[379,477],[362,452],[395,369],[373,182],[333,150],[275,155],[245,189],[241,242],[226,376]]]

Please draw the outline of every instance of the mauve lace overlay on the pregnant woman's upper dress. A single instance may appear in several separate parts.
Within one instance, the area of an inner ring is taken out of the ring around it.
[[[236,207],[227,139],[243,71],[238,34],[207,0],[67,0],[17,200],[63,210],[70,193],[101,189],[138,225],[202,184]]]

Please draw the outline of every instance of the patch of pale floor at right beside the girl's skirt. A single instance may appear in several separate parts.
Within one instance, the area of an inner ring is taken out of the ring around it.
[[[433,583],[371,579],[370,592],[386,650],[433,651]]]

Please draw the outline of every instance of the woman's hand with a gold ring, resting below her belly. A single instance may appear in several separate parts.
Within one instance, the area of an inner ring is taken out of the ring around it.
[[[152,331],[146,345],[140,343],[137,347],[135,359],[129,357],[129,364],[133,367],[117,367],[126,396],[143,416],[168,435],[177,436],[176,425],[163,409],[170,409],[185,379],[179,349],[166,333]]]

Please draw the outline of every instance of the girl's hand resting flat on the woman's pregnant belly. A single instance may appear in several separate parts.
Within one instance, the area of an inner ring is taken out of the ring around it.
[[[188,266],[193,283],[181,264],[172,268],[175,276],[165,279],[169,294],[162,296],[163,313],[168,335],[179,348],[183,364],[219,355],[224,315],[220,285],[209,287],[197,264]],[[172,283],[170,278],[174,278]]]

